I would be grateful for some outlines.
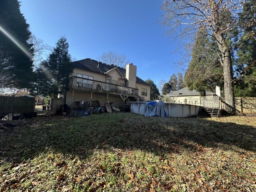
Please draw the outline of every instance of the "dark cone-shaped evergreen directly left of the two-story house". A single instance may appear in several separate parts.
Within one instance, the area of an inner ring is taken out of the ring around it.
[[[48,59],[43,61],[41,67],[36,70],[37,82],[34,86],[34,94],[51,97],[64,94],[72,72],[68,42],[65,37],[61,37]]]

